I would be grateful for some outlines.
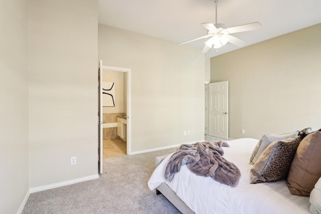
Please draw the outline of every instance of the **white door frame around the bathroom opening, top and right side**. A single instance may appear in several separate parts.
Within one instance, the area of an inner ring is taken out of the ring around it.
[[[127,140],[126,140],[126,153],[131,154],[131,69],[130,68],[120,68],[113,66],[102,66],[103,71],[117,71],[125,72],[127,74]]]

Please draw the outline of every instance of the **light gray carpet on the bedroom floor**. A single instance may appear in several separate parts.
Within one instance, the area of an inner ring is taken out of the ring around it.
[[[99,179],[32,193],[22,213],[180,213],[147,186],[154,158],[174,151],[104,159]]]

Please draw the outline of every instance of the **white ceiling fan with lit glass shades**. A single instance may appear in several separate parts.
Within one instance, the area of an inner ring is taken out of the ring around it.
[[[205,42],[205,47],[202,50],[202,54],[207,53],[210,48],[214,47],[215,49],[221,48],[226,45],[228,42],[242,47],[246,45],[246,42],[240,40],[236,37],[231,36],[230,34],[244,32],[244,31],[253,31],[261,28],[261,24],[258,22],[250,23],[246,25],[240,25],[232,28],[226,28],[224,24],[217,24],[217,3],[219,0],[214,0],[215,2],[215,25],[212,23],[203,23],[202,26],[206,28],[207,35],[196,38],[194,40],[189,40],[187,42],[180,43],[179,45],[184,45],[186,43],[194,42],[196,40],[204,39],[211,37],[209,40]]]

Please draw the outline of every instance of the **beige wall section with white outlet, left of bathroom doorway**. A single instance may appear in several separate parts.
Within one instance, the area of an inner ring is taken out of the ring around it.
[[[96,0],[30,0],[30,187],[97,175],[97,16]]]

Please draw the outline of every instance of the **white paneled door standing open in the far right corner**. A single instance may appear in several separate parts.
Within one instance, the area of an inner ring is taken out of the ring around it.
[[[209,83],[209,135],[228,139],[228,81]]]

